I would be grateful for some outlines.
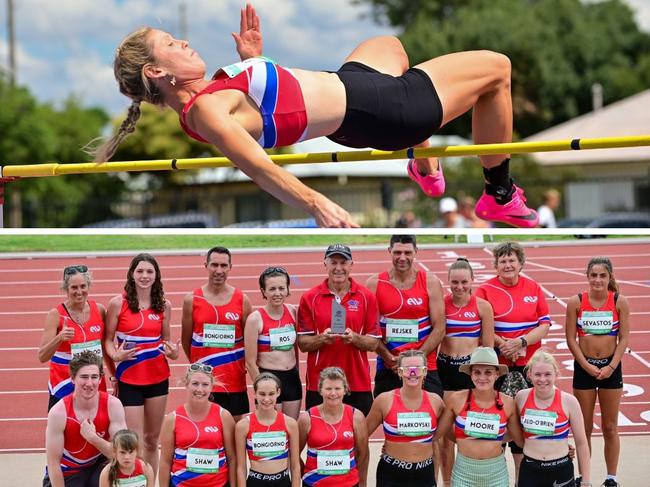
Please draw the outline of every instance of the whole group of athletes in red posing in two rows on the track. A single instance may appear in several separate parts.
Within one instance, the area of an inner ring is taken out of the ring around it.
[[[132,260],[124,292],[106,308],[89,299],[89,269],[66,267],[66,300],[49,312],[39,348],[50,362],[43,485],[153,486],[157,473],[164,486],[364,487],[368,438],[381,424],[380,487],[435,486],[438,468],[445,485],[507,487],[507,441],[515,485],[590,486],[596,398],[603,485],[619,485],[629,309],[609,259],[591,259],[587,288],[568,300],[572,396],[556,386],[560,368],[541,348],[548,305],[521,274],[519,244],[494,247],[496,276],[474,290],[471,264],[453,262],[447,294],[415,264],[415,236],[392,236],[388,252],[391,268],[363,285],[351,277],[350,248],[330,245],[327,277],[297,309],[285,302],[289,273],[268,267],[259,278],[266,303],[253,310],[227,282],[230,251],[214,247],[207,282],[183,300],[177,342],[154,257]],[[181,348],[186,397],[165,415],[168,360]],[[368,352],[377,353],[374,390]]]

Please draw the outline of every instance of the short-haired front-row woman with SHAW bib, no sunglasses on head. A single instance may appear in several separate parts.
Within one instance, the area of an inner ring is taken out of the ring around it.
[[[326,367],[318,392],[323,403],[300,413],[300,451],[307,446],[303,487],[366,487],[368,429],[361,411],[343,404],[350,388],[345,372]]]

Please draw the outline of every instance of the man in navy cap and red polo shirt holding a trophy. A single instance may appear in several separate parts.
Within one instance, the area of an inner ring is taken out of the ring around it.
[[[300,298],[298,347],[307,353],[305,408],[323,401],[318,380],[325,367],[341,367],[350,387],[343,402],[368,414],[372,405],[368,352],[381,338],[375,295],[350,277],[352,251],[343,244],[327,247],[327,279]]]

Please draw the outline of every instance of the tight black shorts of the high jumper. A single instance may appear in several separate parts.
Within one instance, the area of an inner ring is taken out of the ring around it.
[[[358,62],[336,72],[345,86],[341,126],[328,138],[347,147],[400,150],[427,140],[442,124],[442,104],[431,78],[411,68],[391,76]]]

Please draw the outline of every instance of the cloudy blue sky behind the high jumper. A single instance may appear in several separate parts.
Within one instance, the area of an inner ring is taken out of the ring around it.
[[[236,59],[230,32],[239,28],[242,0],[184,0],[189,41],[209,68]],[[71,93],[86,105],[120,114],[111,62],[130,31],[151,25],[179,34],[182,0],[14,0],[17,79],[43,101]],[[627,0],[650,31],[650,0]],[[335,69],[361,40],[393,33],[351,0],[257,0],[265,54],[288,67]],[[8,65],[6,0],[0,2],[0,65]]]

